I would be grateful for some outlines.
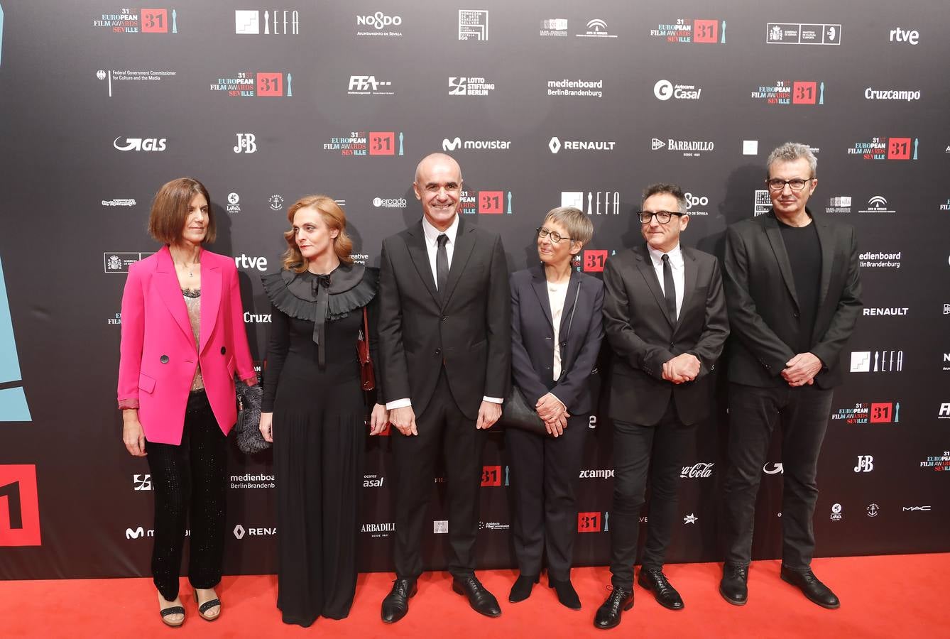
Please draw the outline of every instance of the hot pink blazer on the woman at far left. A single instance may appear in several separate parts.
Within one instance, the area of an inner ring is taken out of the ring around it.
[[[208,403],[227,435],[237,422],[234,374],[257,379],[244,332],[237,268],[201,250],[200,346],[168,247],[129,267],[122,298],[119,406],[139,408],[149,442],[181,443],[188,392],[201,365]]]

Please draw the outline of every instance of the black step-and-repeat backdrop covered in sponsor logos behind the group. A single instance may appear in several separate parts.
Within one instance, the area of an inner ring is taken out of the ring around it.
[[[740,7],[740,5],[742,5]],[[950,550],[950,13],[943,0],[835,3],[0,0],[0,578],[146,573],[144,460],[115,387],[128,266],[156,251],[150,200],[204,181],[255,359],[287,207],[328,193],[358,261],[421,216],[418,160],[463,167],[462,215],[511,270],[562,204],[596,235],[579,267],[640,241],[639,192],[689,192],[684,242],[722,248],[768,209],[784,141],[819,160],[811,208],[858,228],[864,317],[820,462],[819,554]],[[719,558],[723,410],[686,451],[671,561]],[[609,550],[611,424],[590,423],[578,564]],[[368,443],[361,561],[390,569],[390,437]],[[480,563],[513,565],[510,460],[485,451]],[[229,573],[275,568],[269,455],[233,448]],[[756,557],[779,554],[782,462],[763,468]],[[433,478],[429,568],[446,563]],[[646,512],[644,511],[644,516]]]

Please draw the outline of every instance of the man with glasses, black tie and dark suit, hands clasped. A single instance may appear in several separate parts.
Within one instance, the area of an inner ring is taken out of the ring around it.
[[[594,625],[614,628],[634,605],[639,512],[650,467],[647,542],[639,584],[656,601],[681,610],[663,574],[676,517],[680,454],[690,426],[710,412],[712,370],[729,334],[722,275],[715,257],[679,243],[686,198],[675,184],[654,184],[638,214],[646,243],[607,260],[603,315],[617,357],[611,375],[614,503],[610,571],[613,591]]]

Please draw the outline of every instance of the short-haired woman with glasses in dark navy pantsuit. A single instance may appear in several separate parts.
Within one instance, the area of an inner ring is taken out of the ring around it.
[[[575,499],[590,415],[597,398],[591,370],[603,337],[603,283],[571,268],[594,235],[574,207],[552,209],[538,229],[540,264],[511,275],[512,381],[542,418],[547,435],[506,428],[520,575],[508,601],[527,599],[547,555],[548,585],[580,610],[571,585],[577,533]]]

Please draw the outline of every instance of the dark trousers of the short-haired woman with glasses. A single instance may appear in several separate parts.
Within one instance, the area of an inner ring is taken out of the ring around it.
[[[547,553],[551,579],[571,575],[578,531],[576,493],[590,415],[572,415],[558,438],[506,428],[504,443],[511,468],[512,532],[518,569],[540,574]]]

